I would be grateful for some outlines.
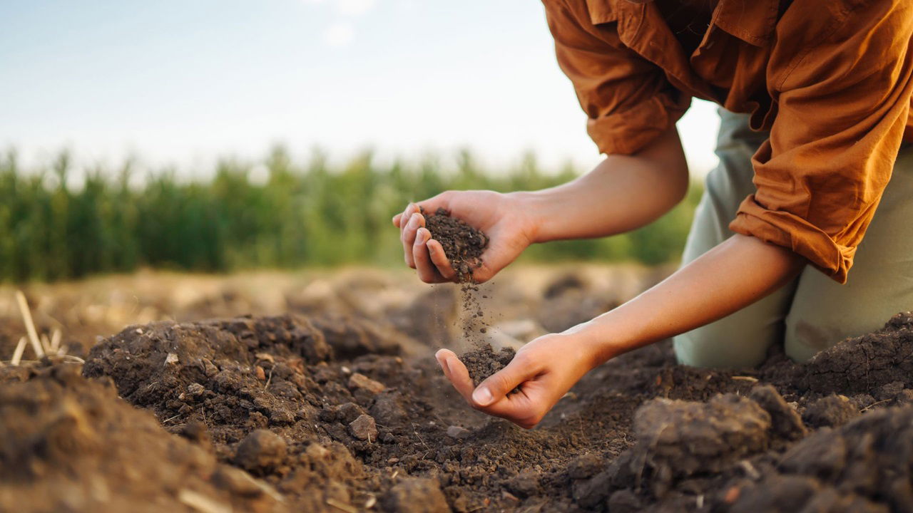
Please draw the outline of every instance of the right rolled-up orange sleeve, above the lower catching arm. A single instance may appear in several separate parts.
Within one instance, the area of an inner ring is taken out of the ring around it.
[[[779,112],[753,158],[757,193],[729,225],[840,283],[890,179],[913,94],[913,3],[855,7],[804,25],[783,17],[786,47],[774,50],[768,80]]]

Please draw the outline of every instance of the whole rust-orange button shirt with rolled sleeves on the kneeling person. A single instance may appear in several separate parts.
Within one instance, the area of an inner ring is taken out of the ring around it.
[[[757,194],[729,227],[845,283],[901,141],[913,141],[913,1],[719,0],[693,52],[670,29],[691,18],[666,21],[661,7],[699,9],[542,2],[601,152],[637,152],[693,97],[749,113],[771,135],[752,159]]]

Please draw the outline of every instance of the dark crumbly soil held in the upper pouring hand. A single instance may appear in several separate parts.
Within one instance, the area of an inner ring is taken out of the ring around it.
[[[422,214],[425,215],[425,212]],[[488,236],[466,222],[451,217],[443,208],[438,208],[435,214],[425,215],[425,228],[444,248],[444,253],[456,272],[456,281],[471,281],[473,271],[482,263],[482,252],[488,246]]]

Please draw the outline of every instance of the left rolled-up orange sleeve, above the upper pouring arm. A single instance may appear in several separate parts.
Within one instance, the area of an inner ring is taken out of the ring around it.
[[[614,23],[593,25],[582,0],[543,0],[561,70],[600,152],[631,154],[673,126],[690,105],[662,69],[624,47]]]

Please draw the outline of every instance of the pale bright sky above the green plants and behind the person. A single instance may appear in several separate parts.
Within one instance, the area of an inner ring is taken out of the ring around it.
[[[601,157],[530,0],[4,0],[0,150],[179,170],[278,143],[344,160],[472,150],[497,170]],[[715,107],[679,122],[716,162]]]

